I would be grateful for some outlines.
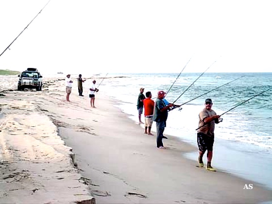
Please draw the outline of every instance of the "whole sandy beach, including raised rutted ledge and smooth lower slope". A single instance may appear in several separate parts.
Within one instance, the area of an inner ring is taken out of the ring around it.
[[[96,107],[74,83],[0,96],[0,204],[252,204],[272,200],[260,184],[196,167],[195,147],[174,136],[157,149],[103,90]],[[154,133],[155,135],[155,133]],[[197,158],[197,155],[196,155]],[[254,161],[255,162],[255,161]],[[252,184],[252,189],[244,189]]]

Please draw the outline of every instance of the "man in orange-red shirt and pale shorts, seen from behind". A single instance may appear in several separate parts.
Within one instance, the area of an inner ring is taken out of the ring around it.
[[[145,93],[146,99],[143,100],[144,103],[144,115],[145,115],[145,134],[153,136],[151,133],[151,127],[153,123],[153,112],[154,112],[154,101],[151,99],[152,94],[150,91]],[[148,132],[147,132],[148,129]]]

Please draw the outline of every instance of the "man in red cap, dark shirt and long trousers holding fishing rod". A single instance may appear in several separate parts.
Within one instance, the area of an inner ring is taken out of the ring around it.
[[[154,115],[153,115],[153,121],[156,122],[156,128],[157,128],[157,148],[165,149],[163,146],[162,139],[166,138],[163,136],[164,129],[166,127],[166,120],[168,117],[168,110],[170,107],[174,107],[178,105],[174,105],[172,103],[169,103],[168,105],[165,104],[163,101],[165,96],[164,91],[158,92],[158,98],[156,99],[155,105],[154,105]]]

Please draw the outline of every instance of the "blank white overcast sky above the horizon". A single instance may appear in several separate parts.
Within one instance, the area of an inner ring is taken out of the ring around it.
[[[48,0],[0,0],[0,53]],[[41,73],[271,72],[269,0],[51,0],[0,56]]]

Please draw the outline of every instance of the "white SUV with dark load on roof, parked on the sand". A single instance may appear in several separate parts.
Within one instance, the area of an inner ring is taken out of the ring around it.
[[[37,91],[42,90],[42,76],[38,69],[27,68],[25,71],[18,75],[18,90],[23,91],[25,88],[36,89]]]

